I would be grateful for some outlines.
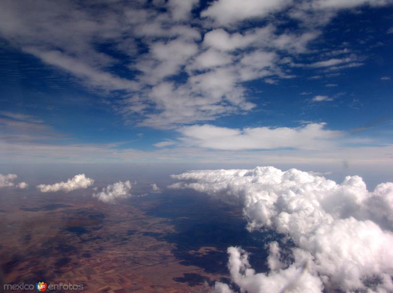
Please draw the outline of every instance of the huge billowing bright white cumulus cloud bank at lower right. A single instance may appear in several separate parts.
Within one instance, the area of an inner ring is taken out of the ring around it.
[[[172,177],[181,182],[171,188],[192,188],[240,203],[250,231],[273,229],[295,243],[286,259],[277,242],[270,244],[268,273],[255,273],[244,250],[228,248],[232,281],[244,291],[393,291],[392,182],[369,192],[359,176],[337,184],[315,173],[274,167]],[[221,283],[213,290],[230,292]]]

